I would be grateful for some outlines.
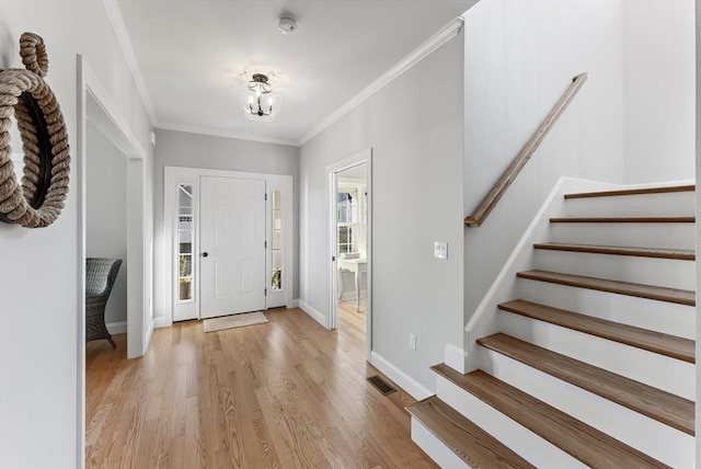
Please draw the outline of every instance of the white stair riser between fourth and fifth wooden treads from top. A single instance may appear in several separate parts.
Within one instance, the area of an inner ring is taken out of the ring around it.
[[[696,308],[519,278],[516,298],[635,325],[685,339],[696,338]]]

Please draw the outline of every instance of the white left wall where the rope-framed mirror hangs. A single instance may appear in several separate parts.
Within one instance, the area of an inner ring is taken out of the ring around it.
[[[99,1],[0,0],[0,68],[21,67],[19,37],[44,37],[46,81],[77,149],[76,54],[85,60],[125,122],[148,145],[148,116]],[[66,208],[50,227],[0,226],[0,467],[79,466],[78,247],[76,164]]]

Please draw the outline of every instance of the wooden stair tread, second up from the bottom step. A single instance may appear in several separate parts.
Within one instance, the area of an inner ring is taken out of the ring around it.
[[[667,467],[482,370],[432,369],[589,467]]]

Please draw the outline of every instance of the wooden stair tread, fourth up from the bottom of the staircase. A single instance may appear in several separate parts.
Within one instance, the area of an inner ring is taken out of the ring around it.
[[[696,363],[696,344],[689,339],[621,324],[620,322],[552,308],[522,299],[508,301],[498,307],[504,311],[608,339],[683,362]]]

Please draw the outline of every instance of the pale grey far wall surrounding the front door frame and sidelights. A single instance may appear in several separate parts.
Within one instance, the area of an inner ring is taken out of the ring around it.
[[[154,265],[164,263],[163,171],[164,167],[203,168],[265,174],[286,174],[294,179],[292,264],[299,265],[299,148],[263,144],[186,131],[157,130],[153,169]],[[165,272],[156,268],[154,311],[163,317]],[[299,297],[298,268],[292,271],[292,297]]]

